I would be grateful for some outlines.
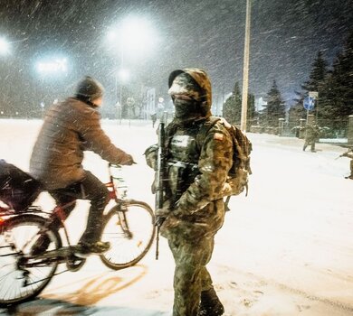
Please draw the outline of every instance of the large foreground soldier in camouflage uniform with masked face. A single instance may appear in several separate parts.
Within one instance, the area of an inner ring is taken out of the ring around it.
[[[233,163],[233,143],[224,124],[212,125],[201,141],[200,129],[211,116],[211,83],[204,70],[173,71],[168,80],[175,117],[166,128],[167,185],[160,228],[173,253],[173,316],[222,315],[206,269],[217,230],[224,223],[221,191]],[[155,146],[146,151],[156,166]]]

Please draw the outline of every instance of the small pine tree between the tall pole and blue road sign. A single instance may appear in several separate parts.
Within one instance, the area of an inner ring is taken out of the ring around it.
[[[278,126],[279,118],[285,117],[285,106],[281,98],[281,92],[273,80],[272,88],[267,93],[267,106],[262,110],[263,119],[267,126]]]

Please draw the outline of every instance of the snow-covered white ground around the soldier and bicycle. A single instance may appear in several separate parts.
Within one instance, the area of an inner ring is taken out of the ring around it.
[[[40,121],[0,120],[0,158],[28,170]],[[129,195],[151,206],[152,172],[143,152],[156,142],[150,122],[105,121],[115,144],[132,153],[137,165],[124,168]],[[317,144],[302,152],[302,140],[248,135],[253,142],[248,197],[231,200],[215,240],[209,270],[224,302],[225,315],[353,315],[353,181],[345,149]],[[88,169],[107,180],[107,163],[92,153]],[[37,204],[52,207],[43,193]],[[73,238],[85,225],[87,202],[68,219]],[[40,299],[8,315],[165,315],[173,302],[174,262],[164,238],[138,265],[111,271],[90,257],[77,272],[55,276]],[[1,284],[0,284],[1,286]]]

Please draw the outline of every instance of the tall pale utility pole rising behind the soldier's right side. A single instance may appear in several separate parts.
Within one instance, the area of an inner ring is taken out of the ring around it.
[[[249,85],[249,47],[250,47],[250,19],[251,19],[251,0],[246,0],[246,19],[245,19],[245,40],[243,50],[243,94],[242,94],[242,116],[240,129],[246,132],[246,116],[248,112],[248,85]]]

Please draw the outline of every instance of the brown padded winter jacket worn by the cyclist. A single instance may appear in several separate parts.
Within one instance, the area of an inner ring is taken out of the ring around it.
[[[98,153],[110,163],[123,164],[130,159],[101,129],[97,107],[67,98],[45,115],[33,147],[30,173],[45,190],[65,188],[83,179],[84,151]]]

